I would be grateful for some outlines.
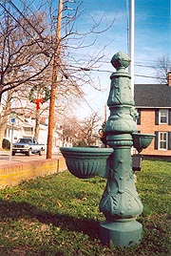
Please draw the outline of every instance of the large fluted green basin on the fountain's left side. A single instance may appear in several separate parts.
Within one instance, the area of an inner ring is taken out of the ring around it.
[[[105,177],[106,160],[113,148],[61,147],[66,166],[77,178]]]

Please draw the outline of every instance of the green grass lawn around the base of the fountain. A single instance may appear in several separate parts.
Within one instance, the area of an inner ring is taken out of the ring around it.
[[[143,203],[142,244],[100,244],[99,202],[105,180],[67,171],[0,191],[0,255],[171,255],[171,162],[143,160],[137,173]]]

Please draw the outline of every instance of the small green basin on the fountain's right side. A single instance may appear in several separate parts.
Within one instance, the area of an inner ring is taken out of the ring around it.
[[[138,152],[141,152],[142,149],[149,146],[154,137],[155,135],[151,134],[133,133],[133,146],[138,150]]]

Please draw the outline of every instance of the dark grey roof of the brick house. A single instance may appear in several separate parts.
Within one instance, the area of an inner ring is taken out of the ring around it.
[[[135,84],[135,106],[171,108],[171,86],[167,84]]]

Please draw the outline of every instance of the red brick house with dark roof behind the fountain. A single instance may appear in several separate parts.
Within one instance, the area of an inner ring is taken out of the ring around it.
[[[134,99],[138,131],[156,135],[142,155],[171,157],[171,74],[168,84],[135,84]]]

